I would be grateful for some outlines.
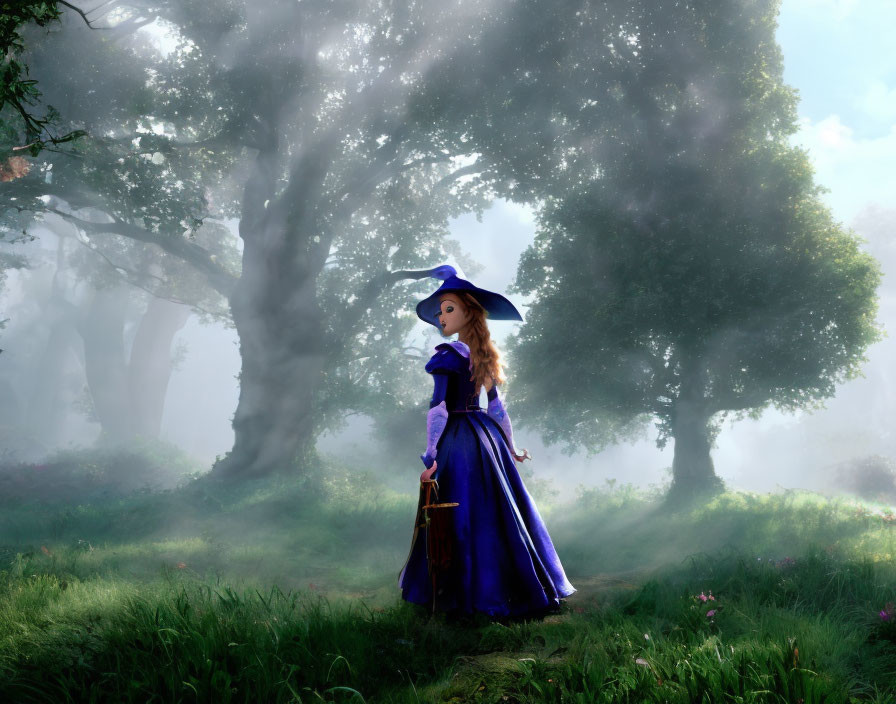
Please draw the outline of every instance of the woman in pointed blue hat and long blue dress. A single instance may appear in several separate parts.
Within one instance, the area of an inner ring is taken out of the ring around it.
[[[411,551],[398,578],[402,597],[442,611],[492,617],[556,609],[575,589],[517,472],[515,462],[529,455],[513,444],[498,394],[504,382],[501,357],[486,325],[486,317],[522,317],[504,296],[477,288],[450,266],[429,273],[443,283],[417,305],[417,315],[445,337],[456,333],[458,340],[436,346],[426,364],[435,390],[420,479],[435,479],[438,501],[457,506],[440,509],[450,511],[445,541],[450,562],[435,579],[427,560],[430,529],[421,523],[422,505],[418,509]],[[479,407],[482,387],[487,409]]]

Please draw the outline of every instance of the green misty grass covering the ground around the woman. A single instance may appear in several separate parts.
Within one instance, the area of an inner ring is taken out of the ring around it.
[[[581,490],[562,612],[458,621],[399,598],[415,497],[323,470],[7,503],[0,701],[896,701],[886,507]]]

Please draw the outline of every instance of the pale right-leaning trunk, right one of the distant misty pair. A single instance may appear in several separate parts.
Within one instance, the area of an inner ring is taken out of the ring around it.
[[[159,437],[173,370],[171,342],[189,317],[187,306],[153,296],[140,319],[128,366],[131,424],[137,435]]]

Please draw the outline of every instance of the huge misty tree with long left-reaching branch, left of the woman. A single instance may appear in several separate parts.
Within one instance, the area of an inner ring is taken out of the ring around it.
[[[332,389],[383,389],[393,405],[411,393],[391,383],[397,340],[414,324],[392,287],[444,258],[450,215],[484,204],[478,184],[460,180],[469,148],[408,104],[444,49],[424,20],[458,13],[284,2],[147,4],[146,14],[170,23],[179,46],[133,80],[134,62],[112,46],[93,47],[86,78],[56,76],[65,114],[93,116],[91,138],[78,163],[33,168],[19,207],[49,209],[92,239],[157,245],[226,295],[243,370],[236,443],[219,472],[285,469],[345,412]],[[222,62],[225,40],[234,53]],[[43,56],[58,63],[58,49]],[[240,217],[240,270],[193,237],[209,198],[220,217]]]

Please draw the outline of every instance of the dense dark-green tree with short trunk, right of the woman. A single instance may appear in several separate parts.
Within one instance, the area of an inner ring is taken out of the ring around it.
[[[776,14],[692,3],[620,28],[612,139],[545,194],[517,275],[535,297],[509,350],[518,416],[591,452],[653,419],[670,498],[719,488],[725,414],[813,407],[878,339],[876,262],[787,142]]]

